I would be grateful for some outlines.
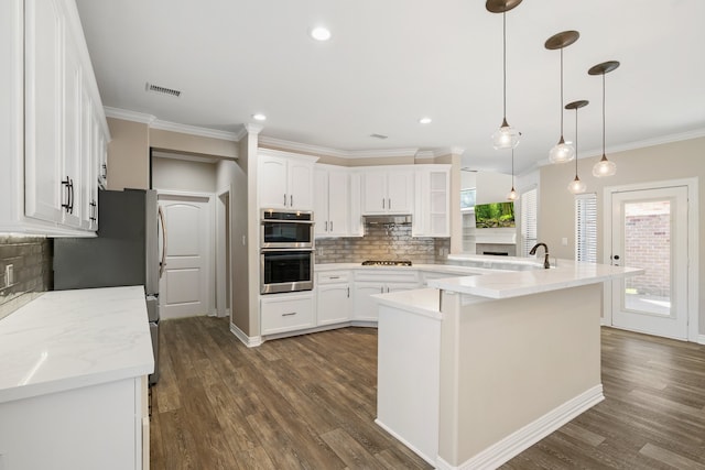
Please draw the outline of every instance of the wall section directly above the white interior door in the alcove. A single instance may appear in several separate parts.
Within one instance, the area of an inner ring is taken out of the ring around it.
[[[155,189],[215,193],[216,165],[206,162],[153,157],[152,187]]]

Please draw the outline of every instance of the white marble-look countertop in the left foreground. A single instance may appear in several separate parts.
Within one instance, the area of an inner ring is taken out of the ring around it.
[[[0,403],[153,371],[142,286],[47,292],[0,320]]]

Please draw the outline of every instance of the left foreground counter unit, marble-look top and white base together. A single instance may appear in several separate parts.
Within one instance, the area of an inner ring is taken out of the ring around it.
[[[142,286],[47,292],[0,320],[0,469],[149,467]]]

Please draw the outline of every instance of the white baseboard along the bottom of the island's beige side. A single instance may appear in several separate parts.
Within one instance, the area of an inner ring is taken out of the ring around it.
[[[499,442],[466,460],[459,467],[452,466],[441,456],[438,456],[435,466],[440,470],[496,469],[603,400],[605,400],[605,395],[603,395],[603,385],[599,384],[510,434]]]

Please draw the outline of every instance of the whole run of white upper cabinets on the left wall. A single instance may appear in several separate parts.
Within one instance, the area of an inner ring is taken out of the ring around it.
[[[73,0],[0,6],[0,231],[91,236],[108,125]]]

